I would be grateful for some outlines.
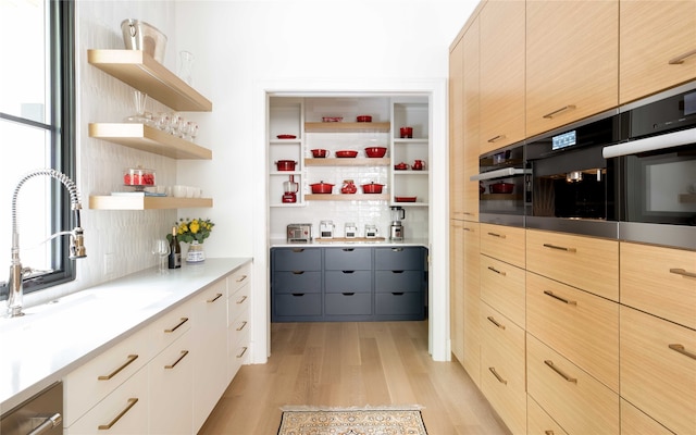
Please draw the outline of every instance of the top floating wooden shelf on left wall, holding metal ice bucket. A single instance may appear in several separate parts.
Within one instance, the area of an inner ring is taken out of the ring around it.
[[[210,100],[140,50],[87,50],[87,61],[174,110],[213,110]]]

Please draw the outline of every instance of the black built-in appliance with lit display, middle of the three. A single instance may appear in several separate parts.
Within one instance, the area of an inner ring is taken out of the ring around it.
[[[532,198],[526,226],[618,237],[618,172],[602,149],[622,140],[618,111],[530,138]]]

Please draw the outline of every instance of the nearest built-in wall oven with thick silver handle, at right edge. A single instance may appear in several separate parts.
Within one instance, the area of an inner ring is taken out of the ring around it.
[[[621,239],[696,249],[696,82],[620,108]]]

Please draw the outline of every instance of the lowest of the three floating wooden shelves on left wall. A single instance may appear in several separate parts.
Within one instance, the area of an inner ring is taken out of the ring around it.
[[[141,196],[90,196],[92,210],[163,210],[186,208],[211,208],[212,198],[176,198]]]

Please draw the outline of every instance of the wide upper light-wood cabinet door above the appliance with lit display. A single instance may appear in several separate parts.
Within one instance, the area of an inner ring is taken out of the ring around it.
[[[619,1],[526,2],[526,136],[616,108]]]

